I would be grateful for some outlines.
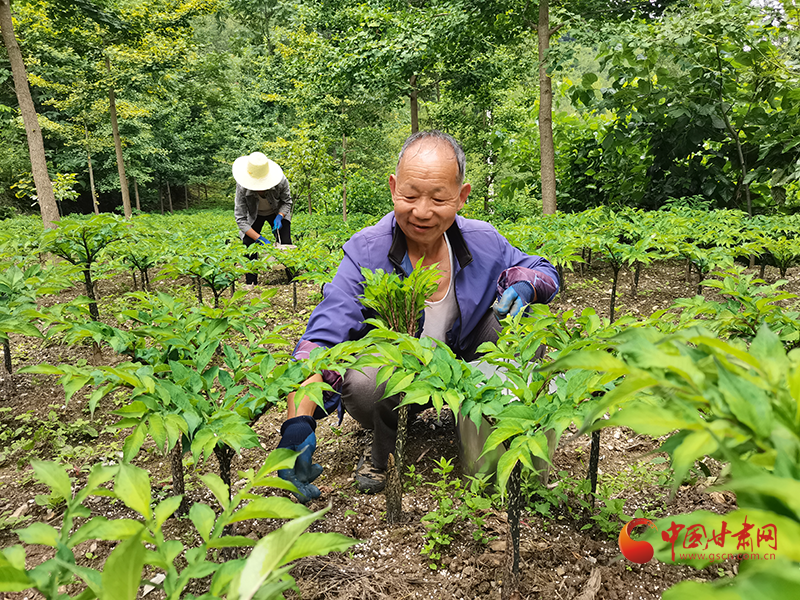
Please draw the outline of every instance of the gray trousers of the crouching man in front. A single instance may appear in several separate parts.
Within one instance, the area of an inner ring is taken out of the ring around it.
[[[475,360],[479,356],[478,346],[483,342],[497,342],[501,329],[497,317],[489,309],[470,335],[466,350],[456,355],[462,360]],[[364,429],[373,430],[372,465],[377,469],[385,469],[389,455],[394,453],[397,439],[396,409],[400,404],[400,395],[383,398],[386,384],[375,385],[377,375],[376,368],[365,368],[363,373],[346,371],[342,382],[342,404]],[[424,409],[425,406],[412,404],[409,406],[409,417]]]

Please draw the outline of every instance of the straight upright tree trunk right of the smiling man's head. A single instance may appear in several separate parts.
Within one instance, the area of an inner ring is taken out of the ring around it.
[[[550,2],[539,0],[539,153],[541,155],[542,211],[556,214],[556,166],[553,147],[553,84],[547,75],[550,50]]]

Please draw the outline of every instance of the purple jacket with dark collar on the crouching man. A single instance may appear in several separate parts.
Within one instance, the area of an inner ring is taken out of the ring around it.
[[[364,319],[375,316],[359,301],[364,292],[361,268],[408,275],[413,266],[408,258],[406,238],[391,212],[372,227],[356,233],[344,245],[344,259],[333,281],[325,286],[324,298],[314,309],[306,332],[294,350],[294,357],[308,358],[318,346],[362,338],[369,331]],[[508,243],[485,221],[456,216],[447,230],[456,264],[452,270],[453,290],[459,316],[448,332],[447,345],[459,354],[470,334],[494,301],[518,281],[529,282],[534,302],[550,302],[558,292],[558,273],[540,256],[529,256]],[[339,389],[335,373],[323,373],[324,380]],[[326,398],[326,410],[338,407],[336,397]]]

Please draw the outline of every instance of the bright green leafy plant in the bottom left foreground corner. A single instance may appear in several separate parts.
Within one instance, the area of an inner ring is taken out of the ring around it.
[[[129,464],[115,467],[95,466],[86,486],[73,490],[67,473],[56,463],[34,462],[37,479],[48,486],[53,496],[66,503],[60,529],[34,523],[17,532],[27,546],[55,548],[55,557],[32,569],[25,566],[26,547],[6,548],[0,556],[0,589],[18,592],[35,589],[47,600],[68,598],[129,598],[138,595],[146,583],[145,567],[165,575],[163,583],[151,584],[163,590],[166,598],[184,597],[192,580],[213,575],[207,598],[274,598],[296,587],[288,574],[289,563],[311,555],[342,551],[354,540],[336,533],[304,533],[328,509],[312,513],[286,498],[261,497],[252,493],[256,487],[280,487],[281,480],[272,471],[291,468],[296,453],[276,450],[258,472],[240,473],[243,486],[229,496],[227,486],[215,475],[203,476],[203,482],[219,503],[219,514],[210,506],[194,504],[189,518],[202,542],[186,548],[180,540],[165,535],[163,526],[180,505],[180,497],[154,504],[147,472]],[[106,487],[113,483],[113,488]],[[132,519],[107,519],[92,516],[84,503],[90,496],[117,499],[137,513]],[[248,519],[286,519],[280,528],[260,540],[229,535],[232,523]],[[118,541],[102,570],[77,564],[75,547],[90,540]],[[220,561],[219,550],[252,547],[246,559]],[[175,558],[185,552],[186,563],[176,566]],[[62,586],[79,582],[83,590],[73,596]]]

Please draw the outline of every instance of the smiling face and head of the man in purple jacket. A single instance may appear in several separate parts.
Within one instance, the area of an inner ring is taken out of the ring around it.
[[[458,181],[455,153],[444,141],[423,138],[406,149],[389,176],[394,215],[410,245],[430,249],[456,219],[469,196]]]

